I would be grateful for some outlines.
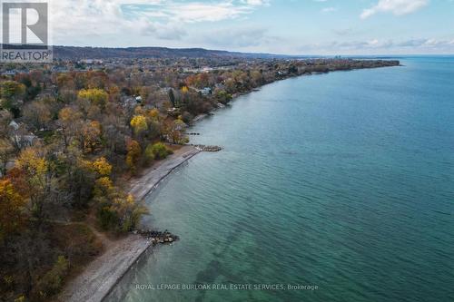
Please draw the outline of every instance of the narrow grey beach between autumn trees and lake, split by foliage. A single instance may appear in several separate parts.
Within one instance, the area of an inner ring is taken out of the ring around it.
[[[131,180],[130,192],[137,200],[155,189],[173,170],[199,153],[195,147],[184,146],[153,167],[143,170],[140,177]],[[151,246],[151,241],[139,235],[128,235],[114,241],[104,239],[105,252],[90,263],[82,274],[71,280],[59,295],[64,302],[99,302],[111,291],[143,252]]]

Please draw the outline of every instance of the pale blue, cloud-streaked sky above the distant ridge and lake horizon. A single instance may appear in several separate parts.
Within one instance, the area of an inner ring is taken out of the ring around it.
[[[50,0],[55,45],[454,54],[454,0]]]

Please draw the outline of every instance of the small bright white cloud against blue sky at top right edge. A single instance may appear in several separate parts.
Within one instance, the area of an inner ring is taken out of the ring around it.
[[[378,13],[392,13],[394,15],[407,15],[428,5],[429,0],[379,0],[377,5],[364,9],[361,19],[367,19]]]

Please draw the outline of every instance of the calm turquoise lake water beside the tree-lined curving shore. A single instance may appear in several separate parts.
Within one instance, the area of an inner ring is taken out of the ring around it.
[[[197,124],[224,150],[163,181],[144,221],[181,240],[107,300],[454,301],[454,58],[402,63],[272,83]]]

